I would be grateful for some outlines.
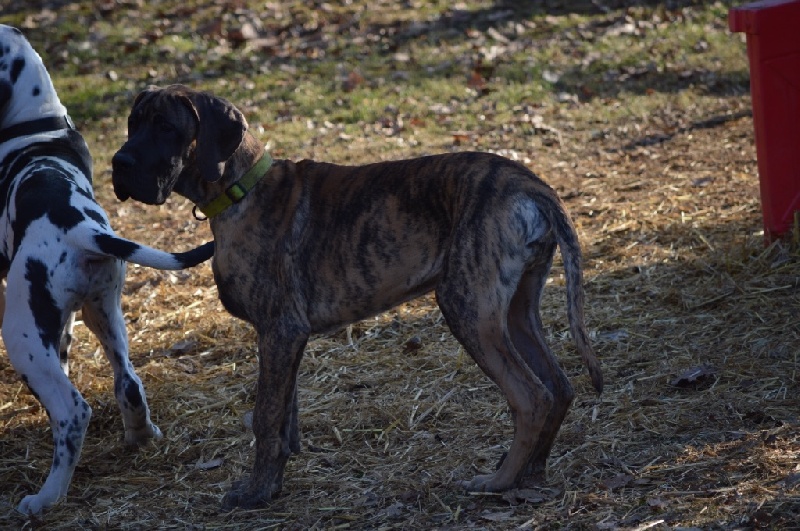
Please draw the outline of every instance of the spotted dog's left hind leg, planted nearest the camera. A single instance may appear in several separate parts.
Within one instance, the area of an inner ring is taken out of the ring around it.
[[[30,297],[31,284],[25,282],[21,269],[12,267],[9,272],[7,296],[14,311],[4,315],[3,341],[17,374],[50,417],[54,445],[47,480],[37,494],[25,496],[17,507],[22,513],[35,514],[66,495],[92,410],[61,368],[57,347],[60,320],[65,318],[62,312],[56,305],[14,304]]]

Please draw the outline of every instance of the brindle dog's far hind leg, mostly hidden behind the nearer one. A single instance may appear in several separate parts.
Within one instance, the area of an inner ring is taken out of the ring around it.
[[[555,244],[539,244],[539,247],[541,249],[535,254],[536,261],[523,273],[508,310],[509,332],[517,352],[553,394],[554,399],[526,474],[532,475],[536,480],[544,479],[547,457],[575,397],[569,378],[544,339],[539,307]]]

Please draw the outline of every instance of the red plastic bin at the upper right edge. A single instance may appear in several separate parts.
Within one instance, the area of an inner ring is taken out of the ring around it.
[[[800,0],[731,8],[728,27],[747,35],[764,235],[772,241],[800,212]]]

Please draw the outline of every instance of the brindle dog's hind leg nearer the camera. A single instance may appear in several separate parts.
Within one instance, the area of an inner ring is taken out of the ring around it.
[[[525,474],[553,396],[517,352],[506,323],[522,265],[498,264],[491,253],[476,258],[469,245],[462,249],[462,256],[451,256],[445,266],[437,301],[453,335],[500,387],[514,417],[514,439],[500,468],[462,485],[471,491],[498,492],[516,486]]]

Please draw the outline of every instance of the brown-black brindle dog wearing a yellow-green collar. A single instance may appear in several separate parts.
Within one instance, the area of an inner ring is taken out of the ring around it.
[[[281,490],[300,449],[297,371],[309,336],[431,290],[515,422],[499,469],[463,486],[502,491],[543,473],[574,397],[539,314],[556,245],[572,335],[602,390],[575,229],[523,165],[486,153],[355,167],[272,162],[236,107],[180,85],[139,94],[128,134],[113,158],[117,196],[160,204],[174,191],[206,212],[220,299],[258,333],[255,465],[224,506],[262,505]]]

